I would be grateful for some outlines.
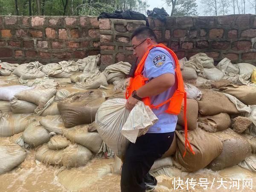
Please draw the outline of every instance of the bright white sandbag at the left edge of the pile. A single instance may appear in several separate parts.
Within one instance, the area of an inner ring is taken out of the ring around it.
[[[29,89],[32,89],[32,87],[27,87],[23,85],[0,87],[0,100],[11,101],[15,94],[20,93],[20,91]]]

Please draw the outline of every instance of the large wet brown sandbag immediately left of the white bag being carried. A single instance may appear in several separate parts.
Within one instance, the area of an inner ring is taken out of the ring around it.
[[[58,102],[58,110],[61,113],[66,128],[92,123],[99,106],[104,102],[102,92],[87,91],[75,93],[61,102]]]

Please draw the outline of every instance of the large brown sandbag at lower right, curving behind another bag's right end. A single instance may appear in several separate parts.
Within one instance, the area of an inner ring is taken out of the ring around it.
[[[221,154],[208,165],[213,171],[235,166],[251,155],[250,144],[233,130],[219,131],[215,136],[223,143],[223,148]]]

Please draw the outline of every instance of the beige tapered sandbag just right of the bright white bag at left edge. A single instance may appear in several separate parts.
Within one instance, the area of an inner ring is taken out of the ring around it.
[[[51,89],[31,89],[23,90],[20,93],[16,93],[15,97],[17,99],[22,99],[27,102],[34,103],[38,105],[39,108],[44,107],[44,105],[56,94],[56,90]]]

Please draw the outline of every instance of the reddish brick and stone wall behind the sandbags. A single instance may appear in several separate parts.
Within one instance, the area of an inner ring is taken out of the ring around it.
[[[256,15],[148,17],[160,43],[179,58],[205,52],[217,63],[227,57],[256,64]],[[57,62],[102,54],[102,65],[134,61],[131,33],[145,21],[96,17],[0,16],[0,60]]]

